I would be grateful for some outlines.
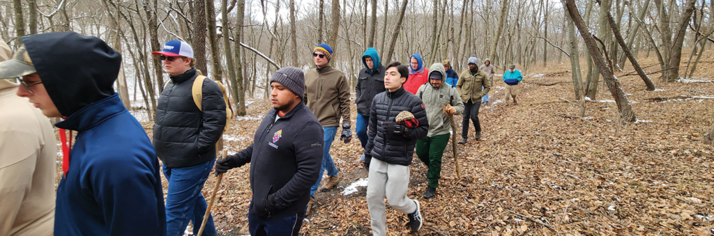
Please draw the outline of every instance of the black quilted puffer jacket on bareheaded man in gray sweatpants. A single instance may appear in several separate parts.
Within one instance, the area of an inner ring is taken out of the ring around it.
[[[392,135],[384,132],[381,123],[395,121],[401,111],[409,111],[419,121],[417,128],[410,128],[404,135]],[[407,93],[404,88],[397,91],[385,91],[377,94],[372,101],[369,113],[369,141],[366,146],[366,163],[377,158],[386,163],[410,165],[414,155],[416,140],[426,137],[429,121],[426,118],[424,103],[419,97]]]

